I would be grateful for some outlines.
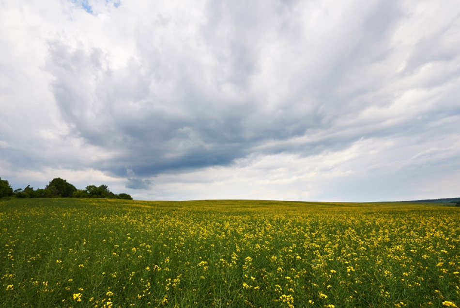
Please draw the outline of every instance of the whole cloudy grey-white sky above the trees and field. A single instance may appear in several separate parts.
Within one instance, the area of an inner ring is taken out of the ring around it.
[[[135,199],[460,196],[458,0],[0,0],[0,177]]]

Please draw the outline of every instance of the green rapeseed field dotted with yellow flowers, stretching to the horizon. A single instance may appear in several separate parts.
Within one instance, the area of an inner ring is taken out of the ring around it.
[[[2,307],[457,307],[460,209],[0,201]]]

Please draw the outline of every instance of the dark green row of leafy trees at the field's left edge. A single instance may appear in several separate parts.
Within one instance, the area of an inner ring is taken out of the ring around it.
[[[62,178],[53,178],[44,189],[34,190],[31,185],[16,189],[10,183],[0,178],[0,198],[15,196],[16,198],[110,198],[132,200],[128,194],[114,194],[107,185],[89,185],[85,189],[77,189],[74,185]]]

